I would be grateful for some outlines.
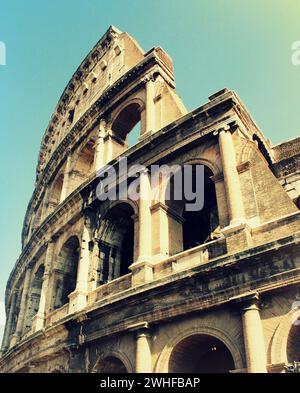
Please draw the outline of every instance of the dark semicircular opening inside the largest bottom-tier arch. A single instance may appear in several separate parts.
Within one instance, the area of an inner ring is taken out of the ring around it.
[[[227,373],[234,370],[233,357],[216,337],[195,334],[180,341],[169,359],[170,373]]]

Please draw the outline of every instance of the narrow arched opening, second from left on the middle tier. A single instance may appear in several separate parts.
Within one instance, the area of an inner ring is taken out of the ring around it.
[[[31,289],[29,293],[25,331],[31,329],[32,318],[37,314],[39,310],[44,271],[45,271],[45,266],[40,265],[33,276]]]

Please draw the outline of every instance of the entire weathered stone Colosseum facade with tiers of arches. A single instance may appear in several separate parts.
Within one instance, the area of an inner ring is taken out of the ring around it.
[[[124,176],[120,157],[144,169]],[[169,55],[111,26],[41,143],[0,371],[299,370],[299,158],[227,88],[188,112]],[[200,210],[166,198],[175,175],[153,187],[162,165],[203,168]],[[151,197],[121,198],[131,186]]]

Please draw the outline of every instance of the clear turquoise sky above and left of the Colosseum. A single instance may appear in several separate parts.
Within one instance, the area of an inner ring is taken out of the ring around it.
[[[0,41],[1,268],[4,289],[20,253],[44,130],[73,72],[109,25],[175,65],[188,110],[223,87],[235,90],[274,144],[299,135],[300,0],[3,0]]]

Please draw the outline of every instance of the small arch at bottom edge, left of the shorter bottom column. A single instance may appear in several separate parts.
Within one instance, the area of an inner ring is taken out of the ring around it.
[[[126,354],[115,350],[100,356],[92,368],[92,373],[133,373],[133,367]]]

